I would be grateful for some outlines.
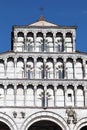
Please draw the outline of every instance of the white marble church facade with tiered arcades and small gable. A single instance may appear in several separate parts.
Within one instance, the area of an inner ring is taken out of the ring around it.
[[[76,26],[13,26],[0,54],[0,130],[87,130],[87,54]]]

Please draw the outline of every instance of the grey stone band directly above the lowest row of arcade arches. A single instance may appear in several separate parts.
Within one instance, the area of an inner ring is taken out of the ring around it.
[[[31,80],[29,80],[29,79],[0,79],[0,83],[2,83],[2,84],[15,84],[15,81],[16,81],[16,84],[20,84],[20,83],[22,83],[22,84],[24,84],[25,82],[26,82],[26,84],[39,84],[39,83],[46,83],[46,84],[62,84],[62,85],[74,85],[74,86],[78,86],[78,85],[82,85],[82,86],[85,86],[85,85],[87,85],[87,80],[56,80],[56,79],[49,79],[49,80],[47,80],[47,79],[44,79],[44,80],[42,80],[42,79],[31,79]]]

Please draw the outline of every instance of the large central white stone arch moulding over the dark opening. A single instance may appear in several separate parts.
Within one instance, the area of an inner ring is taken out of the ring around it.
[[[70,130],[67,122],[60,115],[49,111],[40,111],[29,116],[22,124],[21,130],[28,130],[31,125],[43,120],[57,124],[62,130]]]

